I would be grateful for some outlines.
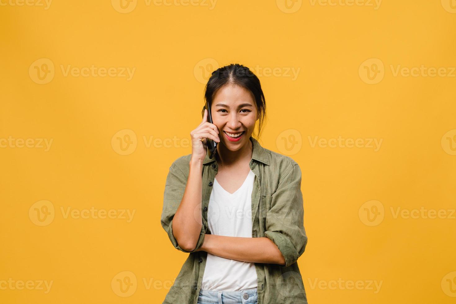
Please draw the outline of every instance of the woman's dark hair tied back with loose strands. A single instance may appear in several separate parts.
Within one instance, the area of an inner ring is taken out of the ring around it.
[[[266,117],[266,101],[258,77],[248,67],[244,67],[242,64],[232,63],[228,66],[220,67],[212,72],[211,77],[207,81],[206,88],[204,88],[205,100],[212,103],[215,93],[226,84],[238,85],[252,93],[259,112],[258,134],[254,137],[259,139]]]

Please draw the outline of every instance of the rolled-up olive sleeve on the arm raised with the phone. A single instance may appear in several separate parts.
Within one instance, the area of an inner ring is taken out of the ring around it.
[[[206,234],[205,227],[207,227],[207,225],[202,225],[197,246],[192,251],[182,249],[172,232],[172,220],[176,214],[177,208],[181,204],[182,197],[184,196],[187,178],[188,174],[184,174],[176,165],[176,162],[172,163],[168,176],[166,177],[165,193],[163,195],[163,210],[161,212],[161,227],[165,229],[171,243],[176,249],[183,252],[195,252],[202,246]]]

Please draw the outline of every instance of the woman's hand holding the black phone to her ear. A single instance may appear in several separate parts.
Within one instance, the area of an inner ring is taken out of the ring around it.
[[[204,160],[207,154],[207,139],[220,142],[217,126],[207,121],[207,109],[204,109],[201,124],[190,132],[190,137],[192,138],[192,160]]]

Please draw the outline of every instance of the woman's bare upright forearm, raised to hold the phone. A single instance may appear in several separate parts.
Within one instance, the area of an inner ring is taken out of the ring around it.
[[[172,231],[179,246],[192,251],[201,232],[202,161],[190,162],[187,185],[172,220]]]

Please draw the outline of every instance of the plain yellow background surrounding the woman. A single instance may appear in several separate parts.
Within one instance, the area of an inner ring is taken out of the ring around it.
[[[0,6],[0,139],[53,141],[47,151],[0,148],[0,281],[53,283],[48,293],[2,288],[1,303],[162,303],[187,258],[160,225],[166,174],[191,153],[201,80],[235,62],[262,71],[268,123],[260,143],[301,166],[309,241],[299,266],[309,303],[455,302],[456,219],[448,217],[456,206],[456,77],[394,74],[399,65],[451,74],[454,1],[384,0],[375,9],[370,0],[218,0],[211,9],[202,0],[138,0],[124,11],[115,0],[54,0],[48,9],[20,1]],[[35,63],[41,58],[54,68]],[[135,72],[128,81],[62,72],[92,65]],[[53,78],[39,84],[36,68]],[[295,79],[285,73],[293,68]],[[369,69],[381,80],[367,83]],[[117,137],[131,134],[136,147],[121,155]],[[312,146],[316,136],[382,144]],[[181,144],[146,145],[151,138]],[[43,204],[54,217],[39,226],[34,212]],[[383,206],[383,220],[369,225],[372,204]],[[397,208],[422,207],[448,216],[394,217]],[[135,214],[131,222],[83,219],[61,208]],[[115,290],[124,272],[137,280],[130,294]],[[325,288],[338,280],[382,285],[377,293]]]

